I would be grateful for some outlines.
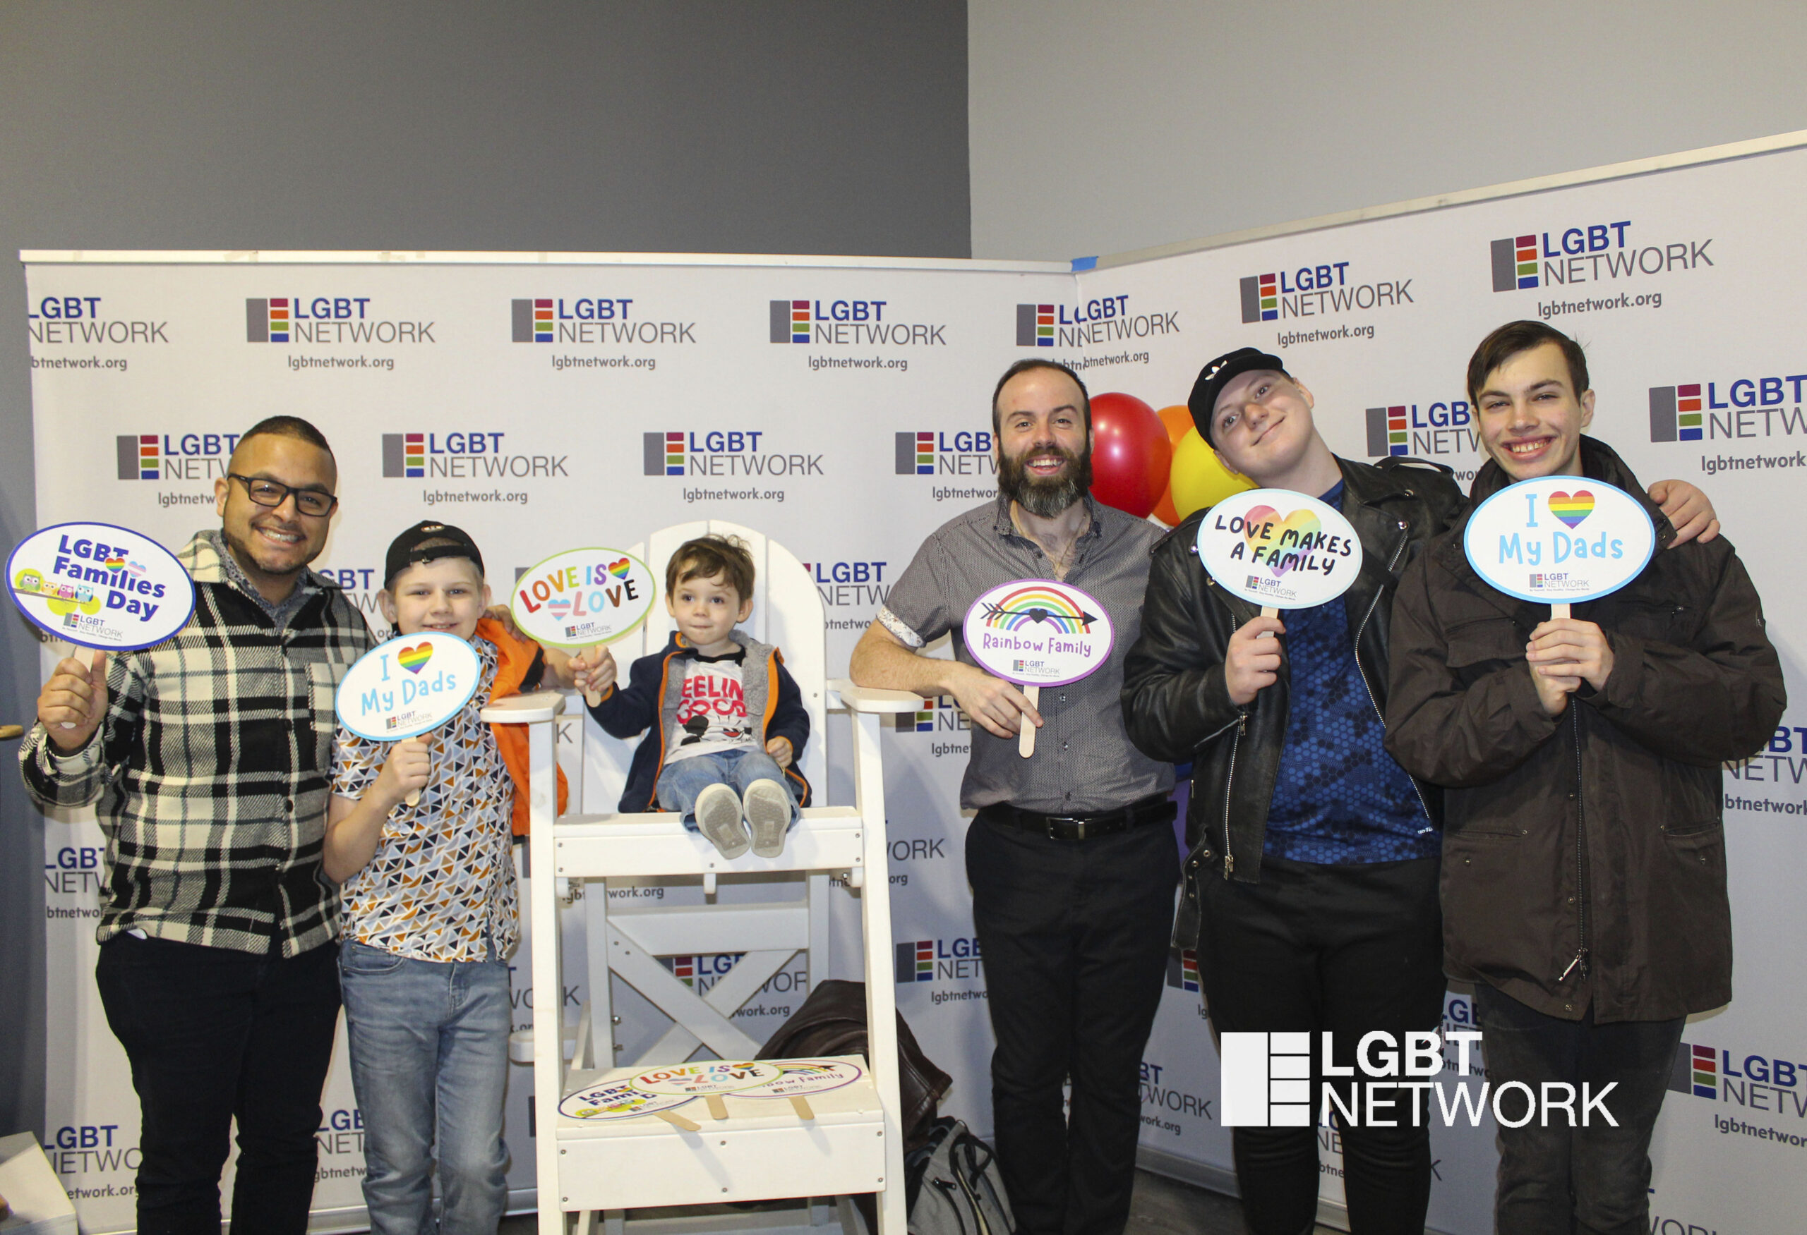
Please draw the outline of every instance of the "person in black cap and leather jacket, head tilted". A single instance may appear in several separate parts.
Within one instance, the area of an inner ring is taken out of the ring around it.
[[[1315,1123],[1321,1033],[1350,1065],[1370,1031],[1404,1045],[1442,1020],[1442,800],[1382,749],[1382,710],[1397,572],[1465,500],[1447,469],[1332,455],[1310,390],[1252,347],[1205,365],[1187,403],[1225,468],[1319,497],[1362,542],[1343,598],[1281,621],[1214,585],[1193,552],[1207,511],[1185,518],[1155,547],[1124,666],[1129,738],[1153,758],[1193,760],[1175,944],[1198,948],[1214,1031],[1310,1035]],[[1677,520],[1711,534],[1699,489],[1668,488]],[[1343,1128],[1355,1235],[1424,1230],[1429,1119],[1395,1110],[1395,1123]],[[1314,1127],[1238,1127],[1232,1148],[1249,1230],[1310,1231]]]

